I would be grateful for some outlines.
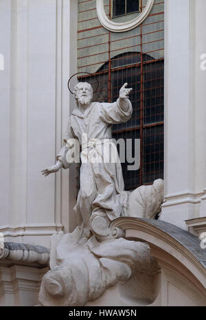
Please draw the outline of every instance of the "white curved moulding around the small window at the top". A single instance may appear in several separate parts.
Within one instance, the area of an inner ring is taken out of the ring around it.
[[[150,14],[150,11],[152,10],[152,6],[154,5],[154,3],[155,0],[148,0],[144,10],[135,19],[124,23],[116,23],[108,19],[108,17],[106,16],[106,13],[104,11],[104,0],[96,0],[98,19],[100,20],[100,23],[102,23],[103,27],[112,32],[129,31],[144,22],[144,20]]]

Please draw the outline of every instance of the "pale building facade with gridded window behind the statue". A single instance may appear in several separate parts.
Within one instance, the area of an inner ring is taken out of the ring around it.
[[[124,224],[161,268],[147,304],[206,304],[205,10],[205,0],[0,0],[0,305],[38,304],[50,237],[76,226],[77,165],[41,175],[75,107],[74,73],[98,101],[133,87],[132,119],[113,126],[115,139],[139,141],[137,168],[122,163],[126,190],[164,179],[159,220]],[[137,305],[130,286],[93,305],[118,305],[119,293]]]

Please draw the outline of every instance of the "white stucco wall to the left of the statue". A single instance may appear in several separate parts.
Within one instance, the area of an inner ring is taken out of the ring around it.
[[[0,232],[8,241],[48,247],[52,233],[75,225],[74,170],[47,179],[41,170],[54,164],[74,107],[76,10],[75,0],[0,0]]]

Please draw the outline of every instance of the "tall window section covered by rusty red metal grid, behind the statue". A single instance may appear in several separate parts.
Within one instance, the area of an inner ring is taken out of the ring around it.
[[[140,12],[145,5],[146,0],[141,1]],[[126,190],[163,178],[163,1],[155,1],[141,26],[120,34],[100,25],[94,0],[79,1],[78,7],[78,71],[98,77],[100,87],[93,100],[114,102],[124,82],[133,87],[132,119],[113,126],[115,139],[140,139],[139,170],[128,171],[130,163],[122,163]],[[104,1],[104,8],[110,17],[110,0]],[[95,86],[93,77],[80,80]],[[133,152],[134,148],[133,143]]]

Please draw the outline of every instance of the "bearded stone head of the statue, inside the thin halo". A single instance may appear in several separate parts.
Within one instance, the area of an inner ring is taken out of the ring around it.
[[[73,95],[76,102],[80,104],[90,104],[93,98],[93,89],[87,82],[78,82],[73,89]]]

